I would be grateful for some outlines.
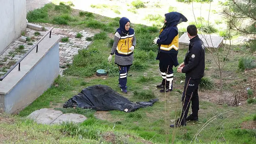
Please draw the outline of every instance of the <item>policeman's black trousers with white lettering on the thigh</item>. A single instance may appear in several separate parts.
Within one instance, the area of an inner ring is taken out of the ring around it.
[[[199,97],[198,97],[198,86],[201,81],[200,79],[192,79],[186,77],[185,84],[184,84],[184,91],[182,96],[182,114],[179,118],[179,122],[183,125],[186,122],[186,118],[188,115],[188,110],[190,106],[190,102],[192,102],[192,115],[194,117],[198,117],[198,110],[199,110]]]

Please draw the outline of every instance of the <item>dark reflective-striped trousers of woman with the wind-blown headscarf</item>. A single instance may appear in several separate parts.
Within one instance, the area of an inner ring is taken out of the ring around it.
[[[159,69],[162,74],[162,84],[166,86],[166,88],[172,89],[172,82],[173,82],[173,65],[165,65],[161,61],[159,61]]]

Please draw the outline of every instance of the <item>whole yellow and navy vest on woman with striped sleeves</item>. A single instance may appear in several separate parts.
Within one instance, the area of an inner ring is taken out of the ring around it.
[[[129,34],[124,34],[121,30],[117,32],[120,34],[121,38],[118,42],[118,46],[116,47],[116,54],[120,56],[131,55],[133,51],[129,50],[129,48],[132,46],[134,30],[131,29]]]

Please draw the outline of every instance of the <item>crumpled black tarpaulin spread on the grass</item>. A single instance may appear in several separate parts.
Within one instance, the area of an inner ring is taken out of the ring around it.
[[[82,90],[77,95],[69,99],[63,108],[79,107],[91,108],[98,111],[102,110],[121,110],[124,112],[133,112],[138,108],[153,106],[158,99],[152,99],[146,102],[132,102],[121,96],[111,87],[104,85],[90,86]]]

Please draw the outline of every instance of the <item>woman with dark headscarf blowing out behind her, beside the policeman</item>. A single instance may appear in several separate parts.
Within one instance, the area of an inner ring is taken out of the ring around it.
[[[154,39],[154,44],[159,45],[157,60],[159,60],[159,69],[162,74],[162,83],[157,85],[161,88],[160,92],[172,91],[173,84],[173,66],[178,66],[179,50],[179,32],[177,25],[181,22],[187,22],[187,18],[178,12],[165,14],[165,24],[159,32],[159,38]]]

